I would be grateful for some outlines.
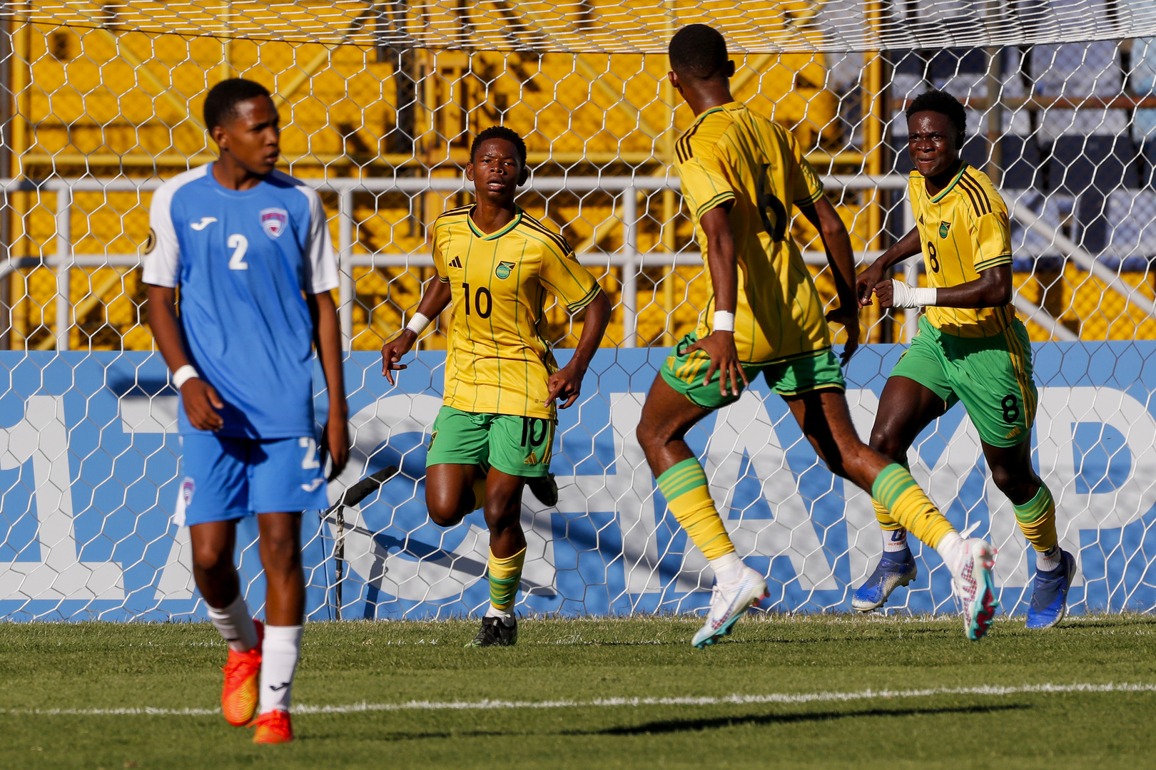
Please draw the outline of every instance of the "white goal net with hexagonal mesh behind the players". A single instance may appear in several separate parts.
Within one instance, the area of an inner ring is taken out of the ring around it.
[[[736,98],[790,128],[868,262],[912,226],[903,110],[927,88],[968,107],[964,157],[1013,217],[1015,305],[1033,341],[1035,459],[1077,554],[1077,612],[1156,607],[1156,10],[1143,0],[609,2],[23,2],[0,9],[0,618],[203,616],[179,526],[176,393],[143,309],[153,190],[213,159],[201,124],[224,77],[269,87],[283,166],[314,185],[341,266],[353,461],[329,496],[399,469],[357,504],[305,515],[309,613],[417,618],[487,601],[475,514],[427,521],[424,457],[447,319],[391,388],[376,351],[433,277],[428,225],[466,203],[474,133],[529,147],[519,202],[565,234],[614,302],[583,397],[562,412],[561,500],[524,504],[519,611],[689,612],[710,571],[635,439],[666,351],[706,300],[672,171],[691,114],[666,80],[670,33],[711,23]],[[822,245],[793,236],[833,301]],[[909,283],[921,278],[914,261]],[[847,368],[866,436],[914,313],[866,308]],[[580,332],[561,307],[565,359]],[[837,338],[842,344],[842,336]],[[324,406],[319,396],[319,406]],[[773,611],[844,611],[881,551],[866,494],[816,459],[756,383],[690,443]],[[1032,560],[962,408],[917,441],[912,472],[959,530],[1000,548],[1023,612]],[[264,597],[252,522],[240,569]],[[889,608],[953,608],[928,548]]]

